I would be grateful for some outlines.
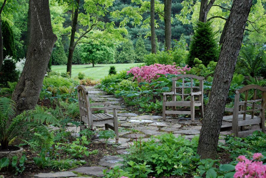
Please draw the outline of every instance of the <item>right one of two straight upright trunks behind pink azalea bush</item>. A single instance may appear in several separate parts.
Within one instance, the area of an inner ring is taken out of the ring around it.
[[[164,25],[165,25],[165,46],[167,50],[171,48],[171,10],[172,0],[164,0]]]

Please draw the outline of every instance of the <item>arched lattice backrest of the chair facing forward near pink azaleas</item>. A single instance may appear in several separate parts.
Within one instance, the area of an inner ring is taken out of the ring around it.
[[[185,85],[185,78],[190,78],[190,86]],[[193,79],[194,78],[200,81],[200,86],[199,87],[193,86]],[[176,86],[176,81],[177,80],[180,80],[180,79],[182,79],[182,85],[180,86],[178,84]],[[181,96],[182,101],[184,101],[184,96],[189,95],[189,94],[184,93],[184,89],[185,88],[190,88],[190,92],[193,92],[193,88],[199,88],[199,90],[202,91],[202,95],[200,95],[199,101],[202,101],[203,102],[203,80],[204,80],[204,77],[199,77],[197,75],[189,75],[189,74],[180,75],[178,77],[173,77],[172,78],[172,81],[173,81],[172,91],[175,92],[175,95]],[[176,92],[176,90],[178,88],[181,88],[182,93],[177,93]]]

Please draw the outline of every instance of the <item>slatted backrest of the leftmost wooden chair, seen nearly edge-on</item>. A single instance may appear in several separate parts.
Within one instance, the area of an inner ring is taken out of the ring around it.
[[[80,108],[80,121],[88,124],[88,127],[93,125],[92,113],[90,109],[90,99],[88,91],[83,85],[77,86],[77,94]]]

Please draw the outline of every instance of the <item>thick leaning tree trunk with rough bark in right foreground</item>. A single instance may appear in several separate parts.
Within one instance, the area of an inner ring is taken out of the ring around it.
[[[203,118],[197,153],[202,159],[215,159],[226,98],[239,55],[252,0],[234,0],[215,68],[206,114]]]

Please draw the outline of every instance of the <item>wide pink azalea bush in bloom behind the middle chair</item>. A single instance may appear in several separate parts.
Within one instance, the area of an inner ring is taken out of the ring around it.
[[[151,82],[152,79],[157,79],[160,75],[156,74],[186,74],[187,71],[190,70],[187,65],[185,67],[176,66],[175,63],[173,65],[165,65],[165,64],[153,64],[149,66],[142,67],[133,67],[127,74],[132,73],[134,78],[137,78],[138,82],[146,81]]]

